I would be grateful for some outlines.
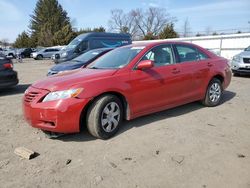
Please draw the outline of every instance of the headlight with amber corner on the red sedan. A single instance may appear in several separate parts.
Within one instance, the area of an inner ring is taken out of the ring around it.
[[[69,89],[64,91],[51,92],[43,99],[43,102],[77,97],[82,91],[83,91],[82,88],[78,88],[78,89]]]

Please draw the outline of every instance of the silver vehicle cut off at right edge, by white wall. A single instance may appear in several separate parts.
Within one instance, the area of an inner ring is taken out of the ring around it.
[[[233,57],[231,69],[235,76],[250,74],[250,46]]]

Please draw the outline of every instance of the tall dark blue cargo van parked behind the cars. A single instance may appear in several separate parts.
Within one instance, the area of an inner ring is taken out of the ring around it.
[[[73,39],[63,50],[55,54],[54,62],[69,61],[91,49],[115,48],[131,44],[131,36],[123,33],[85,33]]]

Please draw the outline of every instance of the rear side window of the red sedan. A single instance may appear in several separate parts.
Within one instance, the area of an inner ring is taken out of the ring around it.
[[[190,62],[207,59],[207,55],[188,45],[176,45],[179,62]]]

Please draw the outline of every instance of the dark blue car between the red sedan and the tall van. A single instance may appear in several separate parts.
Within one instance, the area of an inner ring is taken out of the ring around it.
[[[55,75],[58,73],[64,73],[66,71],[70,71],[70,70],[74,70],[74,69],[78,69],[83,66],[86,66],[89,63],[96,60],[97,58],[99,58],[100,56],[109,52],[110,50],[112,50],[112,48],[99,48],[99,49],[90,50],[76,57],[75,59],[72,59],[71,61],[66,61],[58,65],[55,65],[48,71],[47,76]]]

